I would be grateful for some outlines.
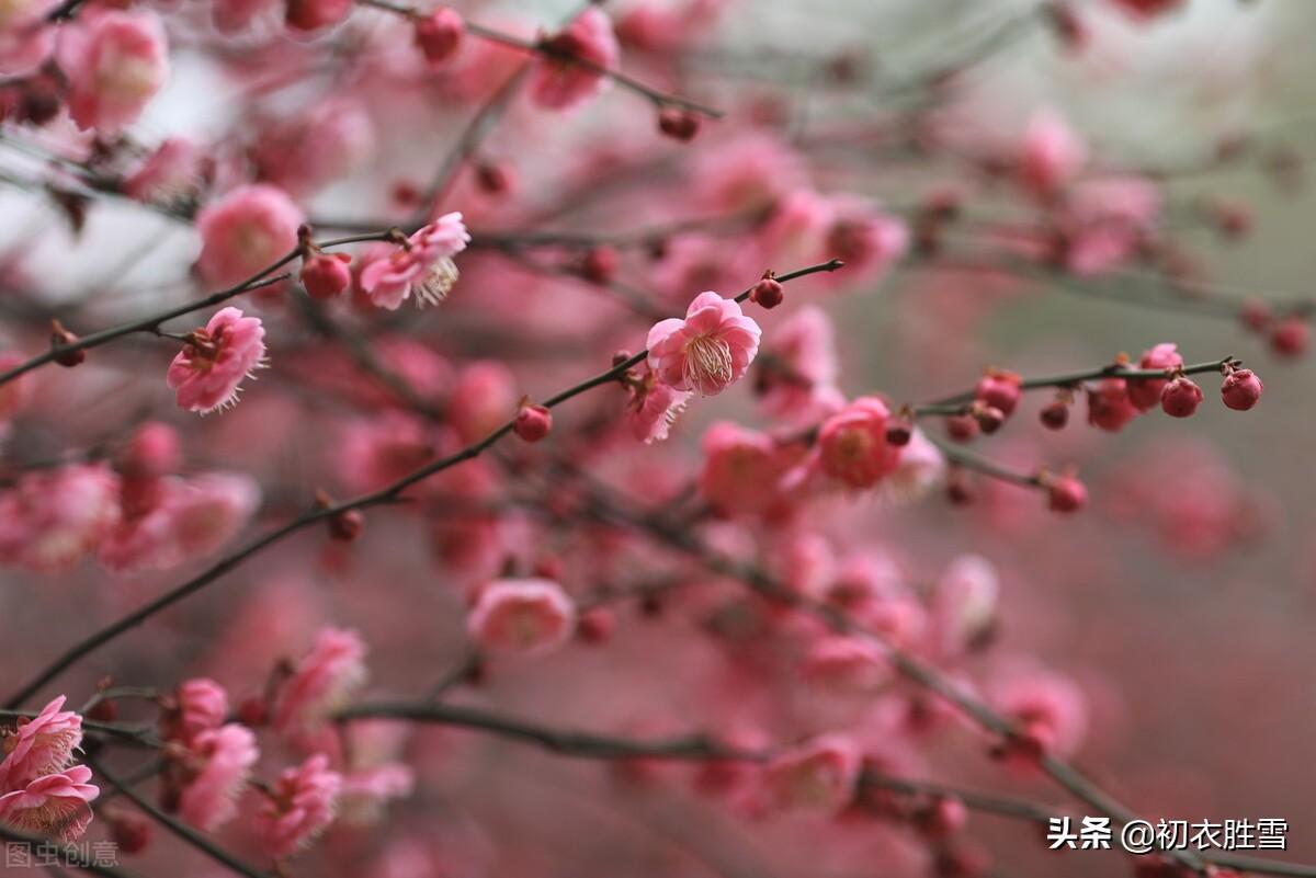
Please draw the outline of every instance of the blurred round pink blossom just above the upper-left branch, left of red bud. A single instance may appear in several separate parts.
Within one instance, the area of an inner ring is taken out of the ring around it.
[[[287,256],[297,246],[303,220],[283,189],[265,183],[238,187],[196,216],[197,271],[208,284],[237,285]]]

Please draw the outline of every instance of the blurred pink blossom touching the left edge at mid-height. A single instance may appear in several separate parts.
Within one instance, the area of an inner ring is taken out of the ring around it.
[[[0,494],[0,560],[46,573],[72,568],[118,523],[118,492],[104,464],[22,476]]]

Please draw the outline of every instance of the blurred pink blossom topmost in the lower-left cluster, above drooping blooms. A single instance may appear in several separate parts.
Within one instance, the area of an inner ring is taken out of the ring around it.
[[[320,726],[366,682],[366,644],[355,631],[321,628],[279,687],[274,727],[300,733]]]

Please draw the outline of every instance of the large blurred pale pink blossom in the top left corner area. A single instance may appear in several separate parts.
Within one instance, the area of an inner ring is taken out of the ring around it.
[[[153,12],[87,16],[62,37],[68,114],[80,129],[117,134],[132,125],[168,79],[164,28]]]

